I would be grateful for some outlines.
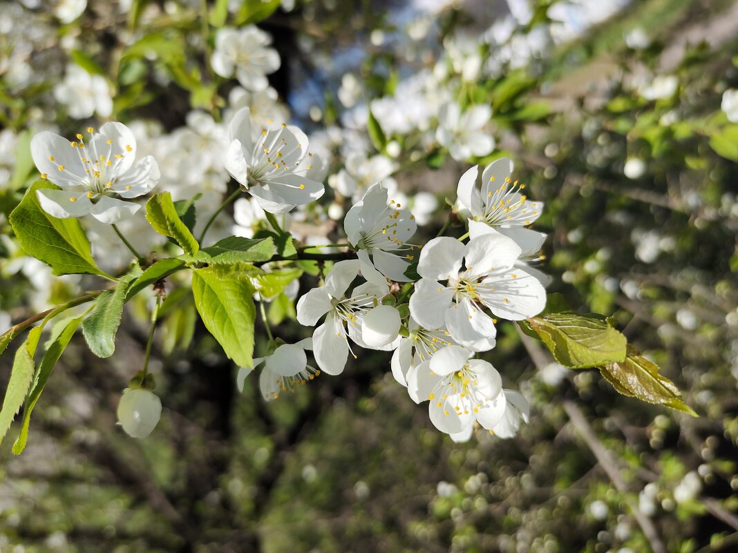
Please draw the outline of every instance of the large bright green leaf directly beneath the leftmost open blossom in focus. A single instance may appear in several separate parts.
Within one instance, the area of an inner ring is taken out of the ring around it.
[[[75,218],[57,219],[41,209],[36,190],[59,189],[36,181],[10,214],[10,225],[24,251],[51,266],[55,275],[101,274],[92,258],[89,240]]]

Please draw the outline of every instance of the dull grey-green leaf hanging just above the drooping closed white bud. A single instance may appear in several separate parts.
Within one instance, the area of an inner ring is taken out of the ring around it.
[[[141,275],[138,267],[123,277],[113,290],[106,290],[95,300],[92,312],[82,323],[90,351],[97,357],[110,357],[115,352],[115,335],[123,315],[123,305],[131,282]]]

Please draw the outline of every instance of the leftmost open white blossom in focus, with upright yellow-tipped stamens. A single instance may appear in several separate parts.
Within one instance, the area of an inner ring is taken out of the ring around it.
[[[58,218],[92,215],[101,223],[117,223],[141,207],[120,198],[145,195],[159,182],[159,166],[151,156],[134,163],[136,139],[122,123],[106,123],[89,143],[42,131],[31,140],[31,156],[46,178],[61,190],[40,189],[41,207]]]

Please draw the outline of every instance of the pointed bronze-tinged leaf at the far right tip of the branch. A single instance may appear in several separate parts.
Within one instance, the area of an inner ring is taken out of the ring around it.
[[[677,386],[658,372],[658,365],[646,359],[638,349],[628,344],[627,358],[617,363],[601,366],[602,376],[623,395],[636,397],[646,403],[683,411],[698,417],[692,408],[683,402]]]

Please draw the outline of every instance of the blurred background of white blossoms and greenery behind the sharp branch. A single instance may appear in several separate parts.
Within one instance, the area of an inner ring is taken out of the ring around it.
[[[218,28],[247,24],[281,58],[259,93],[207,63]],[[471,164],[433,142],[452,95],[492,106],[494,152],[471,161],[510,156],[545,202],[550,291],[613,316],[700,414],[568,372],[513,324],[486,358],[531,402],[514,439],[444,437],[384,352],[265,403],[254,377],[238,392],[191,301],[170,293],[151,367],[162,420],[131,439],[115,409],[142,364],[141,298],[110,360],[74,338],[26,451],[3,443],[0,552],[738,551],[737,66],[731,0],[0,1],[0,331],[95,286],[52,279],[10,237],[32,132],[124,121],[159,160],[160,189],[203,192],[207,214],[235,189],[222,122],[250,105],[300,125],[325,159],[328,216],[296,215],[293,232],[333,236],[345,198],[393,178],[421,243]],[[223,235],[254,223],[220,221]],[[89,232],[120,270],[114,236]],[[269,307],[287,341],[308,333],[291,313],[289,298]]]

